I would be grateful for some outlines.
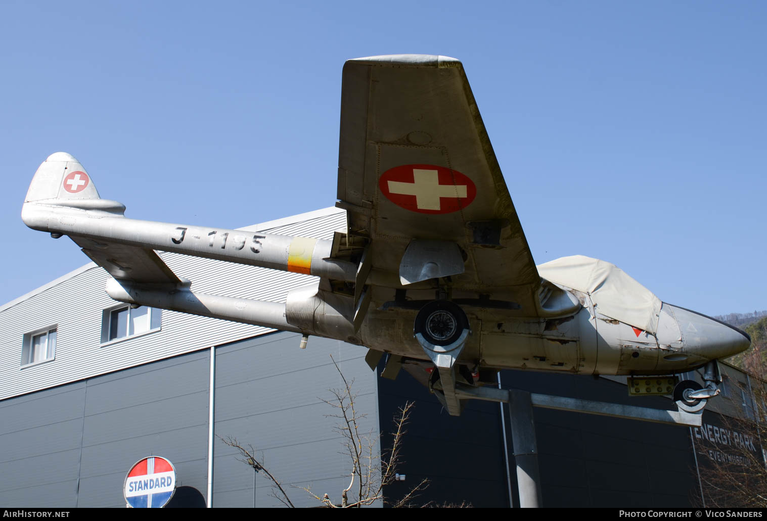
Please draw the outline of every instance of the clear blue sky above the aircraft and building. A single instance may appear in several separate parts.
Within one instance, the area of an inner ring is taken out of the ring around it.
[[[237,228],[335,202],[341,67],[463,61],[535,261],[767,309],[764,2],[8,2],[0,303],[85,264],[21,222],[52,152],[127,216]]]

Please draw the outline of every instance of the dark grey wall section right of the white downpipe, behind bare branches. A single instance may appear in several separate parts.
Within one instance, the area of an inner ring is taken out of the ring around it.
[[[344,387],[333,360],[354,382],[355,408],[364,415],[359,431],[371,433],[374,454],[379,452],[376,375],[364,362],[366,349],[312,337],[302,351],[300,339],[275,333],[216,349],[215,431],[255,447],[296,506],[320,506],[302,487],[341,503],[351,459],[342,454],[344,437],[335,429],[341,419],[328,416],[339,411],[323,401],[333,403],[329,390]],[[249,507],[254,499],[256,506],[281,506],[272,483],[261,475],[254,483],[254,471],[236,449],[220,439],[215,448],[213,506]]]

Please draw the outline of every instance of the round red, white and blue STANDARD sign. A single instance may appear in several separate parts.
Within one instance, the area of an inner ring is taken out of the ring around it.
[[[176,491],[176,469],[164,457],[145,457],[130,467],[123,494],[132,508],[162,508]]]

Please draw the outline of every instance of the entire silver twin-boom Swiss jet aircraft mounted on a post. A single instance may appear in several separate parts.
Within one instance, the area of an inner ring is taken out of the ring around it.
[[[536,267],[460,61],[347,61],[340,141],[347,227],[332,241],[125,218],[65,152],[40,165],[21,217],[68,235],[112,276],[115,300],[301,333],[302,347],[311,335],[351,342],[369,349],[371,367],[388,353],[384,372],[418,369],[450,415],[466,395],[456,389],[495,382],[499,369],[702,369],[705,386],[647,387],[700,411],[719,393],[716,360],[749,346],[746,333],[662,302],[613,264],[575,256]],[[317,280],[285,303],[198,293],[156,251]]]

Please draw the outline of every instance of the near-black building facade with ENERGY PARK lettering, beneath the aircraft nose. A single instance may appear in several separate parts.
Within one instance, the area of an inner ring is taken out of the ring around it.
[[[629,398],[625,385],[604,378],[504,371],[501,379],[504,388],[549,395],[654,408],[671,403]],[[378,388],[382,426],[398,404],[416,397],[403,471],[410,483],[430,480],[423,501],[519,505],[506,410],[502,428],[505,406],[470,401],[460,418],[452,418],[409,375],[397,382],[379,378]],[[534,415],[544,506],[690,506],[698,495],[690,428],[542,408]]]

